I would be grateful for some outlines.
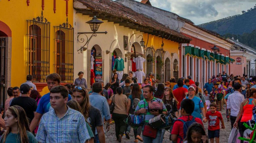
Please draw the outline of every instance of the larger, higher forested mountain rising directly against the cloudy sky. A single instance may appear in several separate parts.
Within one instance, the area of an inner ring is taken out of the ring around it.
[[[200,24],[198,26],[215,31],[220,35],[227,33],[243,34],[251,33],[256,29],[256,6],[241,15],[234,15],[216,21]]]

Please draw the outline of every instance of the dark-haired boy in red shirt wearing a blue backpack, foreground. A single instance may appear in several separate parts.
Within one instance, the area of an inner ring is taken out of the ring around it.
[[[186,122],[190,121],[189,124],[192,124],[194,121],[194,122],[197,122],[197,123],[201,124],[202,126],[204,126],[201,119],[196,118],[191,115],[192,112],[194,111],[194,108],[195,108],[195,103],[191,99],[184,99],[180,103],[180,113],[181,113],[182,117],[178,118],[174,122],[172,133],[171,133],[172,141],[179,143],[179,142],[182,142],[183,139],[186,137],[186,136],[184,136],[184,132],[186,133],[186,131],[187,131],[187,128],[184,127],[184,124],[187,124]],[[188,124],[188,126],[189,126],[189,124]]]

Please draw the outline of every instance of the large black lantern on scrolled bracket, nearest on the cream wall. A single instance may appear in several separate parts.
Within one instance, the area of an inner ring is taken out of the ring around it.
[[[92,32],[78,32],[78,33],[77,33],[77,34],[78,34],[78,36],[77,36],[77,41],[78,41],[78,42],[80,42],[80,43],[85,42],[84,38],[79,38],[79,36],[80,36],[81,34],[85,35],[86,38],[87,38],[86,43],[85,43],[83,46],[81,46],[81,48],[79,49],[81,52],[82,52],[82,49],[84,49],[84,51],[87,49],[87,48],[85,48],[84,46],[85,46],[86,44],[88,44],[88,42],[91,40],[92,36],[93,36],[93,37],[96,37],[97,34],[101,34],[101,33],[107,34],[107,33],[108,33],[108,32],[106,32],[106,31],[105,31],[105,32],[97,32],[98,29],[99,29],[99,27],[100,27],[100,24],[103,23],[103,21],[98,20],[96,16],[94,16],[94,17],[92,18],[92,20],[89,20],[89,21],[87,21],[86,23],[88,23],[88,24],[90,25]],[[92,34],[92,35],[91,35],[91,37],[88,39],[88,36],[87,36],[86,34]],[[77,51],[79,51],[79,50],[77,50]]]

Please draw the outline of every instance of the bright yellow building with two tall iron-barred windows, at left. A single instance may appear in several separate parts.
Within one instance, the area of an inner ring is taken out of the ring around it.
[[[41,95],[50,73],[73,82],[73,1],[2,0],[0,9],[1,103],[29,74]]]

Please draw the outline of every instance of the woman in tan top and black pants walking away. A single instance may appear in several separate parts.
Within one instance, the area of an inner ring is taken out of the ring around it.
[[[112,113],[112,118],[115,121],[115,135],[116,139],[121,142],[122,136],[125,131],[126,124],[124,119],[126,118],[126,108],[128,99],[127,96],[123,94],[122,87],[116,88],[116,94],[111,96],[108,103],[109,105],[114,102],[114,110]]]

